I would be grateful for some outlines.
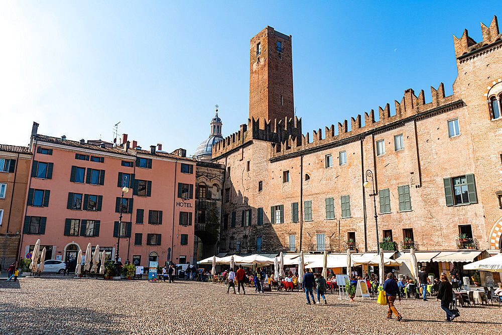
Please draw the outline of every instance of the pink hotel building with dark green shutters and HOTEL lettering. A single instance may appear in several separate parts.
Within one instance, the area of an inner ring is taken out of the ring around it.
[[[40,239],[46,259],[74,258],[89,242],[115,259],[120,238],[122,263],[193,263],[194,160],[156,146],[129,148],[127,135],[113,147],[39,135],[37,127],[21,258]],[[129,192],[121,200],[123,186]]]

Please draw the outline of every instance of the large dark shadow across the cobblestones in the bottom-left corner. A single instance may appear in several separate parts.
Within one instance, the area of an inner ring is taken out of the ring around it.
[[[35,317],[38,315],[38,318]],[[37,325],[36,333],[79,333],[79,334],[109,334],[116,333],[117,326],[129,316],[100,311],[85,307],[37,307],[29,308],[20,304],[3,303],[0,308],[0,319],[9,320],[0,324],[0,333],[16,329],[17,333],[32,332],[33,323]],[[27,320],[31,320],[27,323]],[[57,323],[55,323],[57,322]],[[4,328],[8,327],[8,328]]]

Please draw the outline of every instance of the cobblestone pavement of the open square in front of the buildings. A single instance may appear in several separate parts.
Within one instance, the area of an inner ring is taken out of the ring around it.
[[[403,300],[401,322],[375,300],[306,305],[302,292],[226,294],[221,284],[21,278],[0,282],[1,334],[495,334],[502,308],[460,308],[445,322],[435,300]]]

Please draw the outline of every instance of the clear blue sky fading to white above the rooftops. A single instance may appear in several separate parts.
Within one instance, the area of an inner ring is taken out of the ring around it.
[[[502,20],[483,2],[0,2],[0,143],[39,133],[186,148],[223,136],[249,113],[249,39],[266,26],[293,36],[303,133],[401,101],[457,75],[452,35]],[[501,21],[502,22],[502,21]],[[349,122],[350,124],[350,122]],[[335,127],[336,129],[336,127]]]

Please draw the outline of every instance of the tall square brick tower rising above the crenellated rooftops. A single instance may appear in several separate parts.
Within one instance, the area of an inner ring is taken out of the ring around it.
[[[249,47],[249,119],[294,118],[291,35],[267,27]]]

